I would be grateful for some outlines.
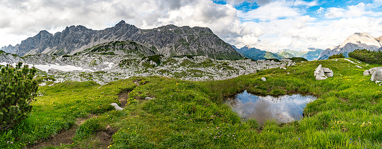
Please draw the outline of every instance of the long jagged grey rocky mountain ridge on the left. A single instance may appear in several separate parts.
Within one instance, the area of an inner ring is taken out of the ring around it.
[[[73,55],[101,43],[126,40],[143,44],[155,54],[165,56],[198,55],[227,60],[242,58],[209,28],[166,25],[139,29],[123,20],[103,30],[92,30],[82,25],[66,27],[54,35],[43,30],[21,44],[5,46],[0,50],[19,56],[38,53]]]

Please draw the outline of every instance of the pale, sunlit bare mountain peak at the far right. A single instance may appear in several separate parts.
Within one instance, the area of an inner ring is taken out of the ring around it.
[[[382,50],[382,36],[375,38],[368,33],[354,33],[349,36],[341,45],[328,48],[321,53],[318,60],[328,59],[329,56],[343,53],[345,57],[356,49],[368,49],[371,51]]]

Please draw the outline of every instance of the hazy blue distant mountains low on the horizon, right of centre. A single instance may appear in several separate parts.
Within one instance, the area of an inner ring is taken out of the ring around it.
[[[243,48],[236,48],[231,45],[240,55],[246,58],[254,60],[265,60],[265,59],[284,59],[292,57],[302,57],[308,61],[317,60],[318,56],[321,54],[322,49],[308,48],[307,50],[294,51],[294,50],[281,50],[277,53],[267,52],[256,48],[251,48],[250,46],[244,46]]]

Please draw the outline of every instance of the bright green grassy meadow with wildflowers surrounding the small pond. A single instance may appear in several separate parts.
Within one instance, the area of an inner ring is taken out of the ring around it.
[[[320,64],[333,70],[334,76],[315,80],[313,72]],[[43,86],[39,89],[43,96],[33,103],[29,118],[11,133],[0,132],[0,148],[32,147],[75,128],[69,145],[52,148],[379,149],[382,89],[370,81],[370,75],[363,75],[377,66],[381,65],[340,59],[298,63],[286,70],[220,81],[132,77],[103,86],[94,82]],[[307,104],[305,117],[298,122],[270,120],[260,126],[256,120],[241,120],[223,103],[245,89],[263,95],[308,93],[319,99]],[[112,110],[109,103],[120,104],[122,92],[128,93],[125,109]],[[86,121],[78,123],[81,120]],[[102,134],[112,138],[107,140]]]

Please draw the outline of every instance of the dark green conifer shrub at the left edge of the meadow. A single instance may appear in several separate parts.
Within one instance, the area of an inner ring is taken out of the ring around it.
[[[37,81],[33,80],[36,69],[7,65],[0,72],[0,130],[7,130],[27,117],[35,101]]]

